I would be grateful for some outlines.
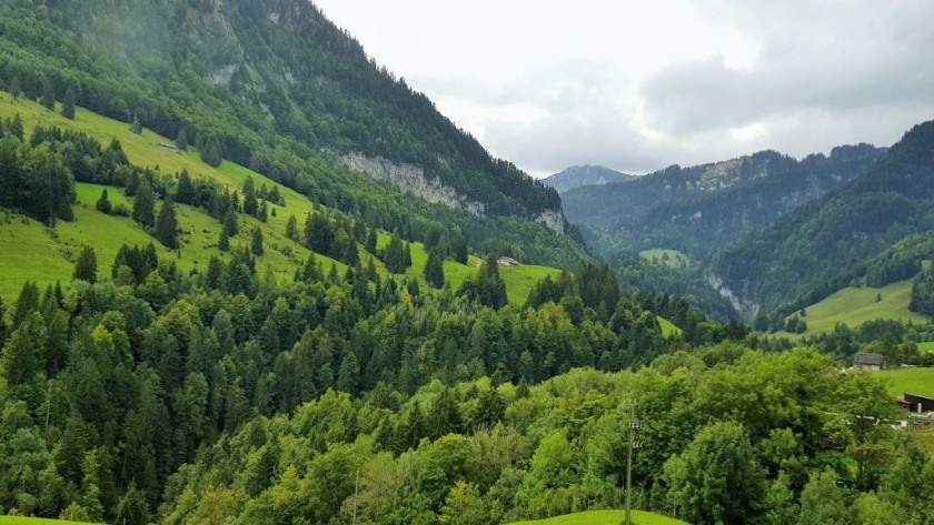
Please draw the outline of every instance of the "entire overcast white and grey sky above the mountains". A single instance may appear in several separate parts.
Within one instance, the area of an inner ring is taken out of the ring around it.
[[[891,145],[934,119],[928,0],[314,0],[544,176]]]

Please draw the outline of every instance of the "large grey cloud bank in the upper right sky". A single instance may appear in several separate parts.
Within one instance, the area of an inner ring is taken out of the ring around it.
[[[719,58],[663,69],[642,85],[647,121],[683,137],[792,112],[930,104],[934,32],[926,28],[934,3],[910,7],[886,13],[878,24],[871,9],[852,26],[846,16],[802,20],[799,32],[767,36],[751,69],[729,69]],[[766,23],[749,17],[743,18],[753,26]]]

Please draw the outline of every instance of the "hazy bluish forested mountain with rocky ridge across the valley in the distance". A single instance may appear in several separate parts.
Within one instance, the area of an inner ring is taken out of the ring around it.
[[[563,195],[568,218],[607,255],[668,248],[703,256],[866,173],[886,150],[834,148],[796,161],[764,151],[715,164],[672,166],[630,183]]]

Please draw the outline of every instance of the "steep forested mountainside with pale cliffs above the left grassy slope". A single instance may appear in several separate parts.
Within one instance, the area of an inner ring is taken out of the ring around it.
[[[4,0],[0,14],[0,83],[16,94],[137,122],[413,240],[456,228],[493,253],[540,228],[556,233],[535,262],[583,258],[556,191],[493,159],[310,2]]]

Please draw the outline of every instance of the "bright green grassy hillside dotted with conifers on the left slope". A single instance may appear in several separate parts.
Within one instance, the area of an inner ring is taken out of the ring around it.
[[[37,125],[56,125],[87,133],[102,144],[117,139],[131,163],[158,168],[163,174],[188,170],[193,178],[203,176],[230,190],[240,190],[248,176],[254,179],[257,186],[261,184],[269,188],[278,186],[286,205],[269,204],[269,218],[266,223],[251,216],[240,215],[240,233],[231,239],[231,246],[238,243],[248,245],[250,232],[259,226],[264,233],[266,253],[258,260],[258,273],[271,274],[280,281],[291,279],[296,266],[308,256],[309,251],[304,245],[284,234],[289,215],[296,215],[301,224],[304,218],[315,210],[308,198],[294,190],[276,184],[266,176],[232,162],[223,162],[219,168],[211,168],[201,162],[199,154],[193,150],[173,152],[161,149],[159,143],[171,143],[171,140],[150,130],[136,134],[130,132],[129,127],[123,122],[81,108],[78,108],[74,120],[68,120],[59,113],[48,111],[37,102],[13,100],[9,93],[0,92],[0,118],[11,118],[16,114],[23,120],[27,134]],[[160,258],[176,258],[179,269],[186,273],[206,267],[210,256],[220,253],[217,250],[220,224],[202,210],[177,205],[181,249],[170,252],[155,242],[132,220],[98,212],[95,202],[103,189],[105,186],[96,184],[76,184],[78,194],[74,206],[76,221],[59,222],[54,230],[18,214],[9,212],[0,214],[0,243],[4,248],[0,254],[0,297],[13,299],[26,280],[37,281],[40,287],[53,284],[56,281],[69,281],[73,260],[85,244],[91,244],[95,248],[99,275],[110,274],[110,265],[123,243],[145,245],[153,242]],[[108,193],[112,204],[125,204],[131,208],[119,189],[108,188]],[[388,242],[389,235],[384,233],[380,235],[378,245],[382,246]],[[364,253],[362,250],[361,253]],[[427,261],[425,246],[421,243],[413,243],[411,254],[413,265],[406,274],[420,280]],[[361,256],[365,262],[372,258],[368,254],[361,254]],[[342,263],[329,258],[318,255],[318,260],[324,264],[325,271],[329,271],[335,264],[339,272],[346,270]],[[386,271],[378,260],[375,262],[379,271]],[[476,258],[470,258],[467,265],[445,261],[448,285],[457,290],[465,279],[476,273],[478,262]],[[509,301],[521,304],[538,280],[549,274],[557,276],[558,273],[558,270],[544,266],[504,269],[503,279],[506,282]]]

